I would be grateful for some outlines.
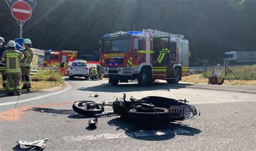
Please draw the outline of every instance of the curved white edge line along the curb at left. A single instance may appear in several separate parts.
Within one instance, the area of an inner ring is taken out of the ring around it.
[[[59,93],[63,93],[63,92],[69,91],[72,86],[69,83],[66,83],[66,84],[68,86],[66,88],[64,88],[63,90],[60,90],[58,92],[53,92],[53,93],[50,93],[50,94],[41,95],[41,96],[35,97],[35,98],[20,100],[20,101],[17,102],[17,104],[22,103],[22,102],[28,102],[28,101],[32,101],[32,100],[42,99],[42,98],[50,97],[51,95],[56,95],[56,94],[59,94]],[[11,104],[16,104],[16,101],[2,103],[2,104],[0,104],[0,106],[11,105]]]

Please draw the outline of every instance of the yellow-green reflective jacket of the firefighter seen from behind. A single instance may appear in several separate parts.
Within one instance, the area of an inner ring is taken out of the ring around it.
[[[8,49],[2,55],[2,61],[5,61],[6,74],[19,74],[21,73],[20,61],[24,58],[22,52]]]

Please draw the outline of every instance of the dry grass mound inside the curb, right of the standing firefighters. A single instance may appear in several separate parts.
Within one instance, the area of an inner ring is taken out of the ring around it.
[[[62,75],[56,71],[38,71],[31,75],[32,81],[61,81]]]

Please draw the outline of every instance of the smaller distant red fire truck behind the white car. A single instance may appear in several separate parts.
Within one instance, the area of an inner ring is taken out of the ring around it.
[[[50,69],[59,69],[59,63],[61,60],[65,62],[66,68],[69,66],[69,61],[77,59],[77,51],[68,50],[50,50],[45,51],[44,66]]]

